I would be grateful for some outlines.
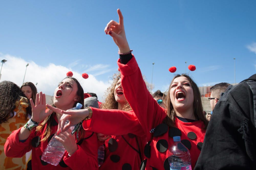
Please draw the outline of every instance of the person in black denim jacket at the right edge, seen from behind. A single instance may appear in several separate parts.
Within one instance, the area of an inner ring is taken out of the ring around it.
[[[214,108],[195,170],[255,169],[255,96],[256,74],[228,87]]]

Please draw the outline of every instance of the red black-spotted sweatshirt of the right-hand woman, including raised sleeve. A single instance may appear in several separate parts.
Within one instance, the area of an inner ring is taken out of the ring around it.
[[[145,148],[146,159],[141,164],[142,169],[170,169],[167,151],[173,144],[173,136],[180,136],[182,143],[189,149],[191,166],[194,168],[204,141],[205,130],[201,130],[204,123],[202,121],[185,123],[176,119],[178,129],[162,124],[166,111],[157,104],[147,90],[135,57],[133,56],[125,65],[120,63],[119,59],[118,66],[125,98],[146,132],[149,143]],[[155,132],[150,133],[155,127],[157,127]]]

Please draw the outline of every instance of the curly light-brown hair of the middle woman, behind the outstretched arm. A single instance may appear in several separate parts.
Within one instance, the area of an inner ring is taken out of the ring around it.
[[[116,83],[118,82],[119,79],[121,79],[121,74],[120,73],[114,74],[112,79],[113,79],[113,83],[105,93],[106,99],[105,99],[105,102],[101,104],[101,109],[118,109],[118,102],[115,101],[114,91],[115,91]],[[123,107],[123,110],[124,111],[132,110],[130,104],[127,101]]]

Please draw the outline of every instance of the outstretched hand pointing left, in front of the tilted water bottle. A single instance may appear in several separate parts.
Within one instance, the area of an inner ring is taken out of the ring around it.
[[[50,106],[48,104],[46,106],[49,109],[51,109],[52,111],[62,115],[61,118],[60,118],[59,125],[58,125],[58,133],[66,131],[67,129],[69,129],[69,127],[74,126],[74,125],[80,123],[87,116],[89,116],[88,109],[64,111],[64,110],[52,107],[52,106]],[[67,120],[69,120],[69,123],[67,125],[65,125]]]

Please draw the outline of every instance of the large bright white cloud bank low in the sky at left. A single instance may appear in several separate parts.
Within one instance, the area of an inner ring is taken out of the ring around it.
[[[57,66],[53,63],[49,63],[48,66],[42,67],[33,61],[25,61],[20,57],[3,55],[0,53],[0,60],[3,59],[7,60],[7,62],[3,64],[0,81],[12,81],[18,86],[21,86],[26,70],[26,64],[29,63],[24,82],[29,81],[34,84],[38,83],[37,90],[42,91],[47,95],[53,95],[58,83],[66,77],[68,71],[73,72],[73,77],[78,79],[85,93],[96,93],[100,101],[102,101],[105,90],[110,86],[108,82],[97,80],[95,76],[91,74],[89,74],[88,79],[83,79],[82,73],[75,72],[64,66]]]

